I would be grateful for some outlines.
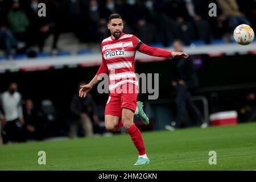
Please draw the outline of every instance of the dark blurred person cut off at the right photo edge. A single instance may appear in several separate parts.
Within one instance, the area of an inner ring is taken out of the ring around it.
[[[240,122],[253,122],[256,121],[256,100],[255,93],[247,94],[245,104],[241,107],[239,113]]]

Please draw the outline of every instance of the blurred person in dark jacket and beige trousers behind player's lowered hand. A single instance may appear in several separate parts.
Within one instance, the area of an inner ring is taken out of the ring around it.
[[[79,85],[85,85],[85,82],[80,82]],[[80,86],[79,86],[80,88]],[[79,132],[79,126],[82,126],[82,135],[84,137],[93,136],[93,125],[99,122],[97,116],[97,106],[93,100],[92,94],[86,94],[85,98],[80,98],[79,94],[74,94],[71,105],[71,125],[69,128],[69,137],[74,138]]]

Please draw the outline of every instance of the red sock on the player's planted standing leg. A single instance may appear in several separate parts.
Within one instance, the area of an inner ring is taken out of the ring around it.
[[[134,146],[137,148],[139,155],[146,154],[146,149],[144,147],[144,143],[141,136],[141,131],[135,126],[131,125],[129,129],[126,129],[127,133],[129,133],[131,140],[133,140]]]

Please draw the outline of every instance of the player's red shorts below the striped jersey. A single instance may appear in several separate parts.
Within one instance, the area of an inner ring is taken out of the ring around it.
[[[122,108],[135,112],[138,93],[110,93],[105,107],[105,115],[115,115],[122,118]]]

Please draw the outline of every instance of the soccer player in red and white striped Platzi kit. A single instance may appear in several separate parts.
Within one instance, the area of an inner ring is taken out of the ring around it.
[[[171,52],[149,47],[136,36],[124,34],[122,32],[123,21],[119,14],[109,16],[108,29],[111,36],[101,43],[102,64],[92,81],[89,84],[81,85],[79,96],[85,97],[86,93],[101,79],[101,73],[109,71],[110,94],[105,107],[105,127],[109,131],[117,131],[119,127],[124,126],[139,152],[139,158],[134,166],[148,164],[150,160],[146,155],[141,132],[133,122],[134,114],[138,114],[145,124],[149,122],[143,112],[142,102],[137,102],[138,80],[134,71],[135,52],[138,50],[158,57],[187,58],[188,55],[184,52]],[[128,93],[124,89],[126,86],[129,87]],[[120,90],[124,92],[120,92]],[[134,92],[130,92],[131,90]]]

